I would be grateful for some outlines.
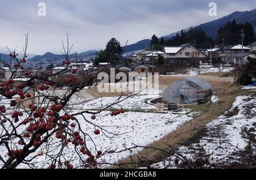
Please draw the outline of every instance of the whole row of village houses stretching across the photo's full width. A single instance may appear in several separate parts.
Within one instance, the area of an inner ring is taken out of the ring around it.
[[[123,58],[119,63],[112,65],[107,62],[98,63],[97,66],[92,62],[72,62],[67,66],[57,66],[51,70],[40,68],[40,70],[31,70],[32,75],[49,75],[49,80],[61,79],[65,82],[71,74],[77,77],[97,75],[98,72],[108,71],[115,68],[116,72],[152,72],[158,66],[159,59],[162,59],[164,67],[198,67],[201,64],[212,64],[213,59],[221,63],[230,63],[241,65],[247,63],[247,58],[256,58],[256,42],[249,46],[228,45],[214,47],[210,49],[198,49],[196,46],[188,43],[180,46],[165,46],[163,52],[159,50],[142,50],[132,54],[130,58]],[[9,67],[0,67],[0,79],[8,80],[12,76],[15,82],[26,82],[27,76],[24,76],[25,70],[16,70],[15,74]],[[155,72],[155,71],[154,71]],[[55,76],[50,76],[56,74]],[[60,78],[61,77],[61,78]],[[67,79],[66,79],[67,78]]]

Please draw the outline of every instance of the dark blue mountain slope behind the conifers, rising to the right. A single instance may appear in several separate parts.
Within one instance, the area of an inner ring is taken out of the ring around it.
[[[223,18],[213,20],[212,22],[197,25],[196,27],[200,27],[201,29],[203,29],[208,36],[216,38],[218,28],[228,23],[228,21],[232,21],[233,19],[236,19],[237,23],[239,24],[249,22],[253,25],[253,28],[256,29],[256,9],[252,11],[243,11],[243,12],[236,11],[228,16],[224,16]],[[189,29],[189,28],[186,28],[186,29]],[[170,35],[164,36],[164,39],[171,38],[172,36],[175,36],[176,33],[177,32],[170,33]],[[125,52],[134,52],[137,50],[141,50],[146,48],[148,45],[150,45],[150,40],[142,40],[135,44],[131,44],[127,46]]]

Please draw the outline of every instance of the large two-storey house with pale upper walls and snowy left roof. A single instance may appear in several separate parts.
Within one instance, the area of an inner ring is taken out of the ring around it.
[[[164,48],[164,59],[167,66],[199,66],[201,63],[208,63],[208,55],[201,52],[191,44],[172,46]]]

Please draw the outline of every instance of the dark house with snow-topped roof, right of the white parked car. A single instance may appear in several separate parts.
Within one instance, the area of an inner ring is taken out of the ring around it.
[[[247,54],[250,53],[250,49],[246,46],[238,45],[232,45],[232,46],[224,46],[223,48],[218,50],[218,56],[220,57],[220,61],[222,62],[230,62],[235,63],[235,60],[237,59],[238,55]]]

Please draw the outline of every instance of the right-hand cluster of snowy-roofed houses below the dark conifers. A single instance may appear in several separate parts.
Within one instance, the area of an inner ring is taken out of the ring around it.
[[[137,54],[131,55],[133,62],[149,63],[151,59],[164,57],[164,64],[168,67],[197,67],[203,63],[212,64],[216,59],[221,63],[233,63],[241,65],[247,63],[247,58],[256,58],[256,42],[249,46],[228,45],[214,47],[211,49],[197,49],[192,44],[182,44],[180,46],[166,46],[163,52],[143,50]]]

